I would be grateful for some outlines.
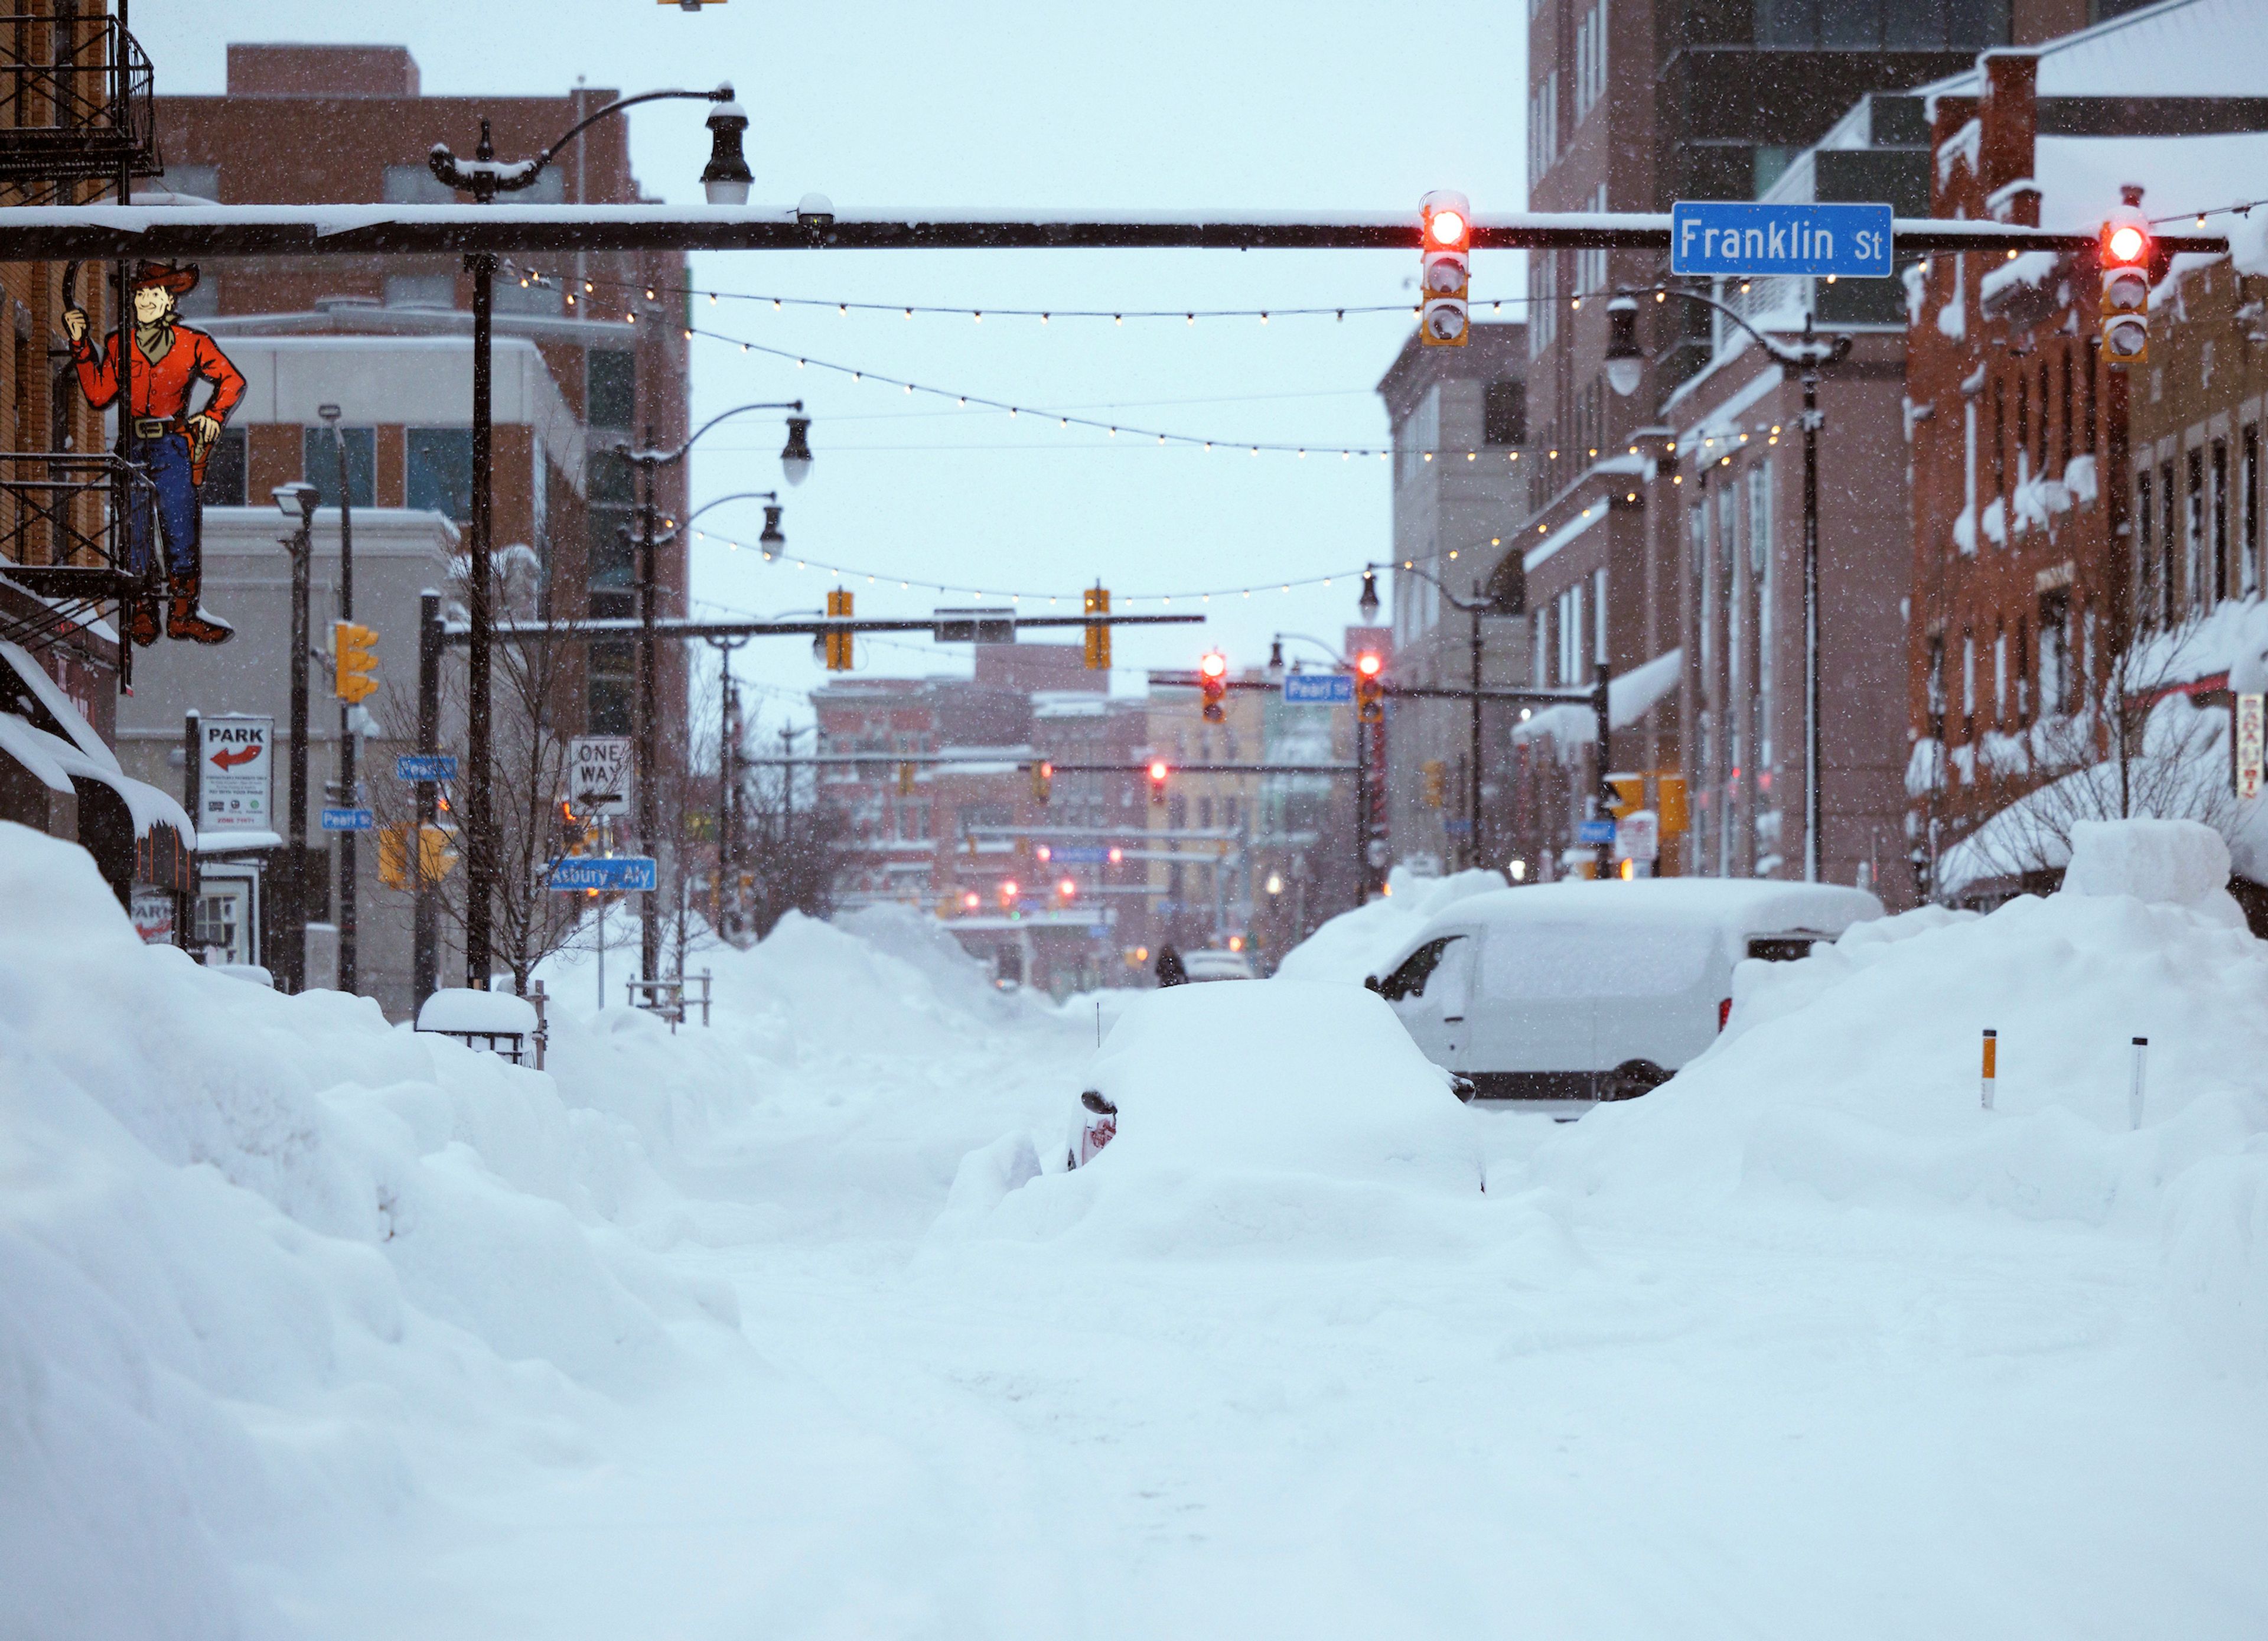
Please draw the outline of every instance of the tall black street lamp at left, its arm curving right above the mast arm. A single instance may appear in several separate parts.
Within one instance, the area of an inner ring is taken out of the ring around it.
[[[469,193],[476,204],[490,204],[499,193],[519,193],[535,184],[544,166],[576,136],[599,120],[637,107],[640,102],[701,100],[719,104],[710,113],[712,154],[701,172],[710,204],[737,204],[748,197],[748,161],[742,157],[742,132],[748,116],[733,102],[733,86],[714,91],[642,91],[635,98],[608,102],[567,127],[551,148],[535,159],[497,159],[488,134],[488,118],[481,118],[481,145],[472,159],[458,159],[447,143],[433,143],[426,152],[426,168],[449,188]],[[735,123],[737,120],[737,123]],[[739,200],[733,191],[739,191]],[[467,690],[465,690],[465,971],[467,985],[488,990],[490,967],[490,901],[497,892],[497,833],[490,806],[490,645],[494,640],[497,615],[490,604],[490,547],[494,533],[494,381],[490,372],[494,352],[497,313],[497,259],[492,252],[465,256],[472,270],[472,529],[467,531],[467,597],[465,615],[472,629],[465,645]],[[651,976],[651,969],[649,969]]]

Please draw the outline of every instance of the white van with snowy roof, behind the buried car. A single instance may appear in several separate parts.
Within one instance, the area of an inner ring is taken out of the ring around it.
[[[1631,1099],[1724,1028],[1735,962],[1880,915],[1835,883],[1542,883],[1456,901],[1363,985],[1479,1099]]]

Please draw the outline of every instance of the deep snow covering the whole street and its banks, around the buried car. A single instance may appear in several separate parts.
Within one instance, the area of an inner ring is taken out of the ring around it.
[[[23,833],[9,860],[18,887],[57,867]],[[998,996],[912,919],[719,953],[708,1033],[569,1005],[551,1078],[132,946],[154,1010],[197,987],[263,1053],[299,1046],[138,1110],[113,1092],[136,1139],[77,1110],[77,1071],[127,1049],[9,1017],[43,1074],[5,1078],[0,1566],[29,1600],[0,1632],[2257,1634],[2250,1244],[2177,1260],[2136,1185],[2248,1164],[2257,1092],[2093,1137],[2012,1076],[1998,1128],[1939,1124],[1939,1160],[2003,1146],[1966,1201],[1930,1183],[1928,1124],[1885,1178],[1837,1180],[1880,1151],[1851,1096],[1844,1130],[1751,1135],[1740,1189],[1708,1187],[1694,1135],[1787,1099],[1676,1099],[1814,1049],[1799,1019],[1833,1028],[1914,942],[1957,967],[1950,942],[2053,935],[2084,1005],[2125,962],[2091,926],[2146,967],[2250,937],[2080,897],[1901,926],[1780,965],[1744,1001],[1762,1024],[1658,1096],[1472,1110],[1486,1196],[1232,1169],[1129,1205],[1141,1176],[1102,1160],[1118,1196],[1061,1235],[1002,1219],[978,1164],[1064,1133],[1093,1003]],[[20,944],[11,981],[39,1001]],[[379,1087],[354,1044],[392,1055]],[[2089,1155],[2125,1169],[2093,1210],[2041,1196]],[[383,1226],[354,1228],[354,1169]],[[172,1291],[134,1278],[166,1262]],[[2200,1328],[2200,1303],[2239,1316]]]

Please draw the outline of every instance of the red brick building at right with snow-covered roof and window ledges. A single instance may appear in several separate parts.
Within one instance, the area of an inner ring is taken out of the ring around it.
[[[2239,34],[2229,52],[2198,52],[2234,11],[2152,7],[2039,52],[1987,54],[1975,84],[1935,95],[1932,213],[2091,232],[2125,188],[2141,188],[2150,216],[2239,197],[2229,188],[2268,163],[2268,136],[2248,129],[2257,104],[2234,84],[2259,45]],[[2164,95],[2100,95],[2134,84]],[[1939,894],[2059,867],[2053,849],[1996,862],[1971,849],[1939,872],[1989,817],[2100,756],[2100,726],[2082,715],[2114,656],[2257,586],[2214,536],[2252,515],[2232,506],[2241,413],[2220,418],[2218,445],[2211,418],[2195,438],[2148,434],[2159,350],[2180,354],[2166,306],[2177,293],[2159,286],[2152,365],[2116,370],[2098,359],[2091,254],[1953,254],[1907,272],[1907,835]],[[2227,363],[2225,390],[2245,368],[2241,354]]]

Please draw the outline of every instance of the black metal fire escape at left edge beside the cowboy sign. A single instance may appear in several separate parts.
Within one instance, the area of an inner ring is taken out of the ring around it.
[[[0,16],[0,202],[73,204],[102,193],[129,200],[134,177],[161,175],[150,57],[118,16],[84,16],[77,0],[48,14]],[[77,302],[73,263],[64,302]],[[113,311],[125,311],[129,270],[116,268]],[[36,325],[54,322],[39,315]],[[132,350],[129,350],[132,352]],[[68,352],[50,352],[50,443],[68,427],[77,397]],[[127,361],[132,368],[132,361]],[[32,386],[16,384],[18,418]],[[68,434],[61,438],[70,443]],[[152,508],[138,465],[82,449],[0,452],[0,579],[41,611],[0,606],[0,638],[43,649],[95,620],[104,606],[156,597],[161,565],[152,540],[141,574],[127,561],[127,520]],[[154,536],[154,533],[152,533]],[[118,638],[120,683],[132,676],[132,645]]]

